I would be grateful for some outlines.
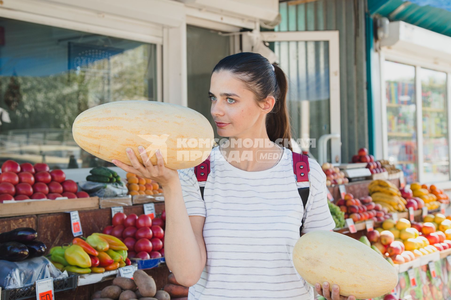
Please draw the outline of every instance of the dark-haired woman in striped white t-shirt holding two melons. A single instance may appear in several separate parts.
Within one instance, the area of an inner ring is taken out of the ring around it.
[[[133,167],[113,161],[162,185],[166,263],[190,287],[189,300],[313,299],[294,268],[293,246],[302,222],[303,233],[331,230],[335,223],[321,167],[309,160],[309,181],[296,182],[291,149],[275,143],[291,137],[286,93],[281,68],[260,54],[230,55],[213,69],[208,95],[218,134],[237,143],[213,148],[207,181],[198,182],[193,168],[166,168],[159,151],[157,166],[143,166],[131,149]],[[249,147],[245,140],[254,143]],[[138,151],[147,161],[143,149]],[[297,190],[302,187],[310,187],[311,195],[305,214]],[[347,299],[336,285],[330,293],[327,282],[317,283],[316,291],[329,300]]]

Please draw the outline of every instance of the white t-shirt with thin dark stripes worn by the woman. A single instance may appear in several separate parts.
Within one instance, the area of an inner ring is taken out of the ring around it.
[[[211,172],[198,182],[194,168],[179,170],[188,215],[204,216],[207,263],[188,300],[313,299],[313,287],[296,272],[293,247],[304,233],[335,228],[327,205],[326,175],[309,159],[308,182],[296,182],[290,149],[271,169],[232,166],[219,148]],[[199,186],[205,186],[202,200]],[[307,209],[298,188],[310,187]]]

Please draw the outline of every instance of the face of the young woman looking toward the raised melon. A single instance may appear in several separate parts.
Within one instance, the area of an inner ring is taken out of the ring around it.
[[[228,71],[214,72],[209,96],[212,102],[211,114],[220,136],[239,136],[264,126],[266,112],[258,105],[255,94]],[[272,107],[271,107],[272,108]]]

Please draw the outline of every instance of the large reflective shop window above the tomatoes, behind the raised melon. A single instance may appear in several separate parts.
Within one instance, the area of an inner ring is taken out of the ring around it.
[[[0,18],[0,163],[113,166],[72,138],[79,113],[156,100],[156,45]]]

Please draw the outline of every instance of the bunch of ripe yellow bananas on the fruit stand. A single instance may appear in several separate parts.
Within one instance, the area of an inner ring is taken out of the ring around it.
[[[369,186],[369,194],[373,202],[379,203],[390,212],[405,211],[407,201],[401,197],[396,185],[387,180],[373,180]]]

